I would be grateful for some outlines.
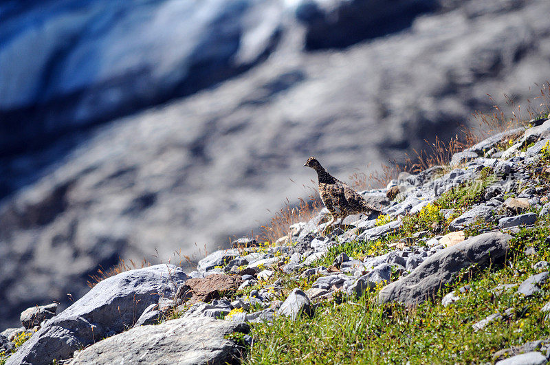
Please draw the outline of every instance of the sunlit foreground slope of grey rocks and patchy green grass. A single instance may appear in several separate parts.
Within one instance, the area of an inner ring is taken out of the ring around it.
[[[52,307],[28,309],[21,315],[25,327],[2,333],[3,348],[14,351],[5,364],[211,364],[294,355],[291,362],[311,356],[380,362],[394,359],[393,346],[419,333],[426,333],[434,351],[397,346],[402,361],[546,364],[550,120],[532,123],[456,153],[450,166],[401,173],[384,189],[362,192],[384,206],[376,219],[357,216],[345,230],[321,236],[327,224],[322,210],[292,225],[276,243],[241,239],[232,249],[213,252],[188,276],[173,265],[131,270],[103,280],[56,316],[46,313]],[[386,197],[389,191],[397,192],[395,199]],[[363,343],[364,355],[356,347],[342,352],[330,346],[338,336],[292,339],[316,327],[331,333],[323,327],[327,313],[357,306],[360,313],[346,319],[355,334],[365,313],[385,313],[377,318],[386,321],[382,327],[372,327],[373,317],[371,327],[362,329],[373,339]],[[452,324],[454,311],[466,317]],[[439,324],[423,319],[432,312]],[[39,320],[29,320],[33,316]],[[437,316],[445,317],[450,332]],[[302,322],[294,328],[294,321]],[[409,322],[425,324],[407,332]],[[448,333],[449,342],[437,342],[430,326]],[[400,334],[388,342],[383,336],[393,327]],[[279,331],[289,328],[291,338],[285,338]],[[13,349],[9,340],[25,333],[30,340]],[[376,338],[383,349],[374,347]],[[325,340],[328,354],[296,348]],[[273,353],[274,343],[281,351]],[[445,345],[453,359],[445,357]]]

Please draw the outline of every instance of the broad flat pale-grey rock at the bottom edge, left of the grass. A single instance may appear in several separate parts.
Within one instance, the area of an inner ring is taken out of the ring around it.
[[[80,351],[69,364],[225,364],[242,348],[226,338],[248,333],[248,324],[187,317],[141,326]]]

